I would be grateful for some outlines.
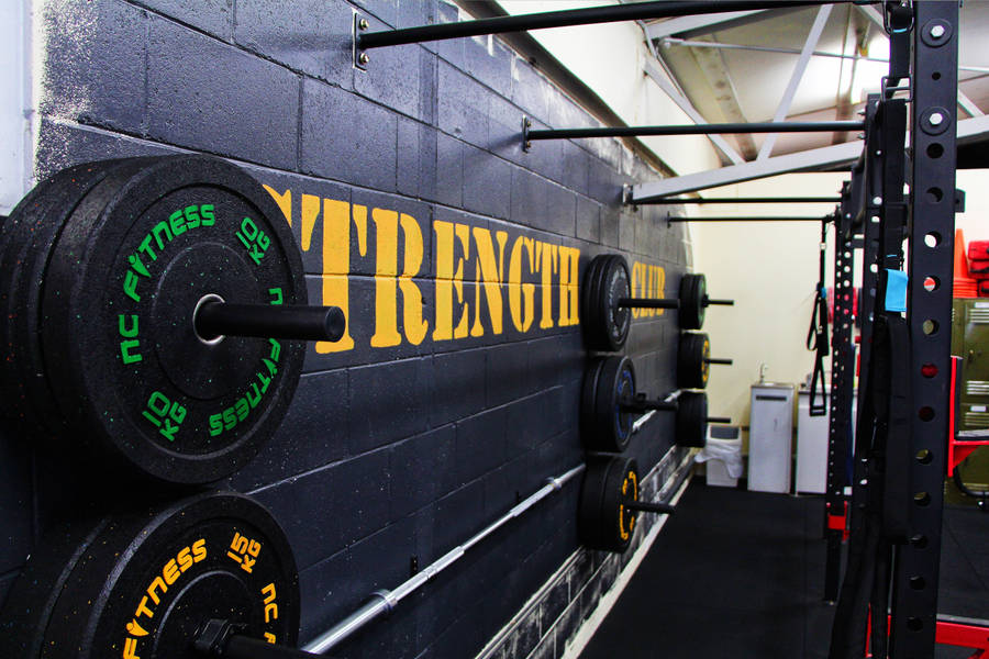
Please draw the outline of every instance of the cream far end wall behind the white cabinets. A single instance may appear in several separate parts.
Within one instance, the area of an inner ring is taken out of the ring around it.
[[[847,174],[789,174],[712,189],[705,197],[837,197]],[[818,216],[834,204],[701,205],[696,216]],[[693,265],[708,279],[712,298],[735,300],[734,306],[708,308],[704,332],[715,357],[735,360],[712,366],[708,396],[712,415],[748,424],[749,387],[767,367],[766,379],[802,382],[813,368],[805,347],[818,283],[821,225],[814,222],[692,223]],[[829,245],[833,235],[829,234]],[[833,253],[829,249],[829,278]],[[830,369],[830,360],[825,365]]]

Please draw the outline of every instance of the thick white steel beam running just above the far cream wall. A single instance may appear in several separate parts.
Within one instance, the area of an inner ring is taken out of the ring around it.
[[[958,122],[959,141],[985,133],[989,133],[989,114],[964,119]],[[860,154],[862,142],[845,142],[844,144],[834,144],[796,154],[775,156],[765,160],[754,160],[742,165],[722,167],[721,169],[638,183],[632,187],[630,202],[635,203],[636,201],[646,201],[655,197],[669,197],[671,194],[718,188],[790,171],[815,171],[840,165],[851,165]]]

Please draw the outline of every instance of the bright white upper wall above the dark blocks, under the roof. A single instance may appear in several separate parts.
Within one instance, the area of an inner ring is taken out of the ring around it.
[[[600,7],[608,2],[500,0],[499,4],[510,14],[523,14]],[[593,89],[629,125],[693,123],[643,74],[646,58],[652,55],[637,23],[533,30],[529,34]],[[643,137],[642,141],[680,175],[721,166],[711,142],[703,136]]]

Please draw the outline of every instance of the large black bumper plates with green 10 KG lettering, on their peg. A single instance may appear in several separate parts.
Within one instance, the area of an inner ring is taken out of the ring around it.
[[[308,306],[281,212],[242,169],[167,156],[90,163],[41,182],[0,228],[0,364],[13,418],[119,476],[204,483],[278,427]]]

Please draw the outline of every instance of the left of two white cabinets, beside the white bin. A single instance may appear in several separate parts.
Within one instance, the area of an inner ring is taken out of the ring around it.
[[[789,492],[793,386],[753,384],[748,422],[748,489]]]

